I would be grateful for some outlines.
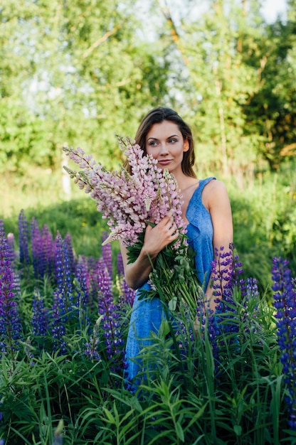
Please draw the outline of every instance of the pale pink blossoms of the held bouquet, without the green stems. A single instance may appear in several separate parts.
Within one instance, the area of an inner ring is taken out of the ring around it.
[[[97,203],[97,210],[102,218],[107,219],[110,235],[105,244],[112,240],[121,240],[130,246],[144,232],[147,220],[157,224],[174,209],[174,220],[182,234],[186,225],[181,218],[181,195],[176,179],[169,171],[157,167],[152,156],[144,156],[138,144],[129,138],[118,138],[120,148],[125,152],[132,174],[124,168],[120,171],[107,171],[93,156],[85,154],[78,147],[65,147],[65,153],[78,164],[83,171],[66,168],[79,188]],[[174,247],[177,248],[178,242]]]

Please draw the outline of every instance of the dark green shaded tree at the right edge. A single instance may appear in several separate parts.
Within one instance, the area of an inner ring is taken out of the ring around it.
[[[254,45],[255,43],[255,45]],[[296,152],[296,22],[277,21],[247,43],[246,63],[260,65],[260,88],[244,107],[245,133],[260,136],[258,149],[273,170]]]

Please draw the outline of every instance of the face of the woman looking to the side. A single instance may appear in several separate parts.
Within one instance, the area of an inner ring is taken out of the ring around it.
[[[163,121],[154,124],[146,136],[147,154],[157,159],[159,168],[167,168],[170,173],[181,172],[184,151],[189,150],[189,142],[184,141],[177,124]]]

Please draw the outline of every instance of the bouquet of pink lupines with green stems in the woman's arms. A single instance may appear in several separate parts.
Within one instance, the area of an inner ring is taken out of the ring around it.
[[[194,273],[194,254],[189,250],[186,224],[181,218],[182,200],[176,179],[168,170],[158,168],[152,156],[144,156],[134,141],[117,138],[131,174],[123,167],[120,171],[108,171],[79,147],[63,147],[63,150],[78,164],[80,171],[64,168],[80,189],[90,193],[102,218],[107,219],[111,232],[105,243],[120,240],[127,247],[129,262],[134,262],[139,255],[147,224],[152,225],[149,221],[157,224],[174,209],[179,237],[157,256],[149,275],[151,291],[144,293],[151,298],[163,296],[173,310],[182,299],[196,313],[201,286]]]

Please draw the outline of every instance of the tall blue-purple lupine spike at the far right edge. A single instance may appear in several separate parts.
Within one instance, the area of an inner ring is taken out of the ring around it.
[[[296,280],[292,278],[288,264],[287,260],[273,258],[272,289],[273,306],[277,310],[277,343],[281,351],[280,361],[288,390],[288,396],[285,398],[290,412],[288,424],[292,431],[296,431]]]

